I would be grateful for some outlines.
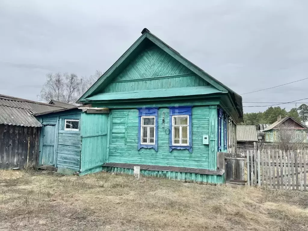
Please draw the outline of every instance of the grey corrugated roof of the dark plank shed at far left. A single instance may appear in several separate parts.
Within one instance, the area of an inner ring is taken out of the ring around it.
[[[41,127],[42,124],[32,115],[33,113],[62,108],[48,103],[0,94],[0,124]]]

